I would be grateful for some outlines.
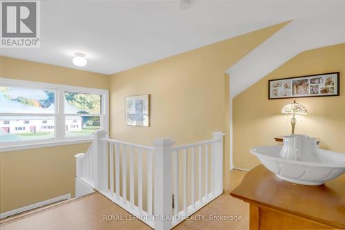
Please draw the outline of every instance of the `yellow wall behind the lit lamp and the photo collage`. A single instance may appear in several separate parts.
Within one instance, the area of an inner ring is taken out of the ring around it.
[[[319,137],[321,148],[345,153],[345,44],[339,44],[302,52],[233,99],[234,165],[252,169],[259,161],[250,148],[274,145],[273,137],[290,133],[290,123],[280,111],[293,99],[268,100],[268,79],[338,71],[339,97],[296,99],[308,109],[296,133]]]

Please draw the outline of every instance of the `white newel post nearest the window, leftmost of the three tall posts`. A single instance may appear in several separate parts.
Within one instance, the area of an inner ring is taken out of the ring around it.
[[[108,187],[106,142],[101,140],[106,137],[106,131],[95,131],[92,134],[94,186],[98,191],[106,191]]]

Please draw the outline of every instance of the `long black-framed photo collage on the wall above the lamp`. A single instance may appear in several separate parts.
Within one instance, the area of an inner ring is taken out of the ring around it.
[[[340,95],[339,72],[268,80],[268,99]]]

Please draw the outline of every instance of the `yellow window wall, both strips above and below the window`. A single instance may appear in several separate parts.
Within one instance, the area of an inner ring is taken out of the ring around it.
[[[0,77],[108,89],[109,77],[0,57]],[[76,153],[89,144],[73,144],[0,153],[0,213],[75,191]]]

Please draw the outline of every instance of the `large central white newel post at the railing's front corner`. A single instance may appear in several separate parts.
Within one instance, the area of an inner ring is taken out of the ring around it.
[[[155,230],[168,230],[171,222],[171,157],[172,144],[168,138],[155,140]]]

